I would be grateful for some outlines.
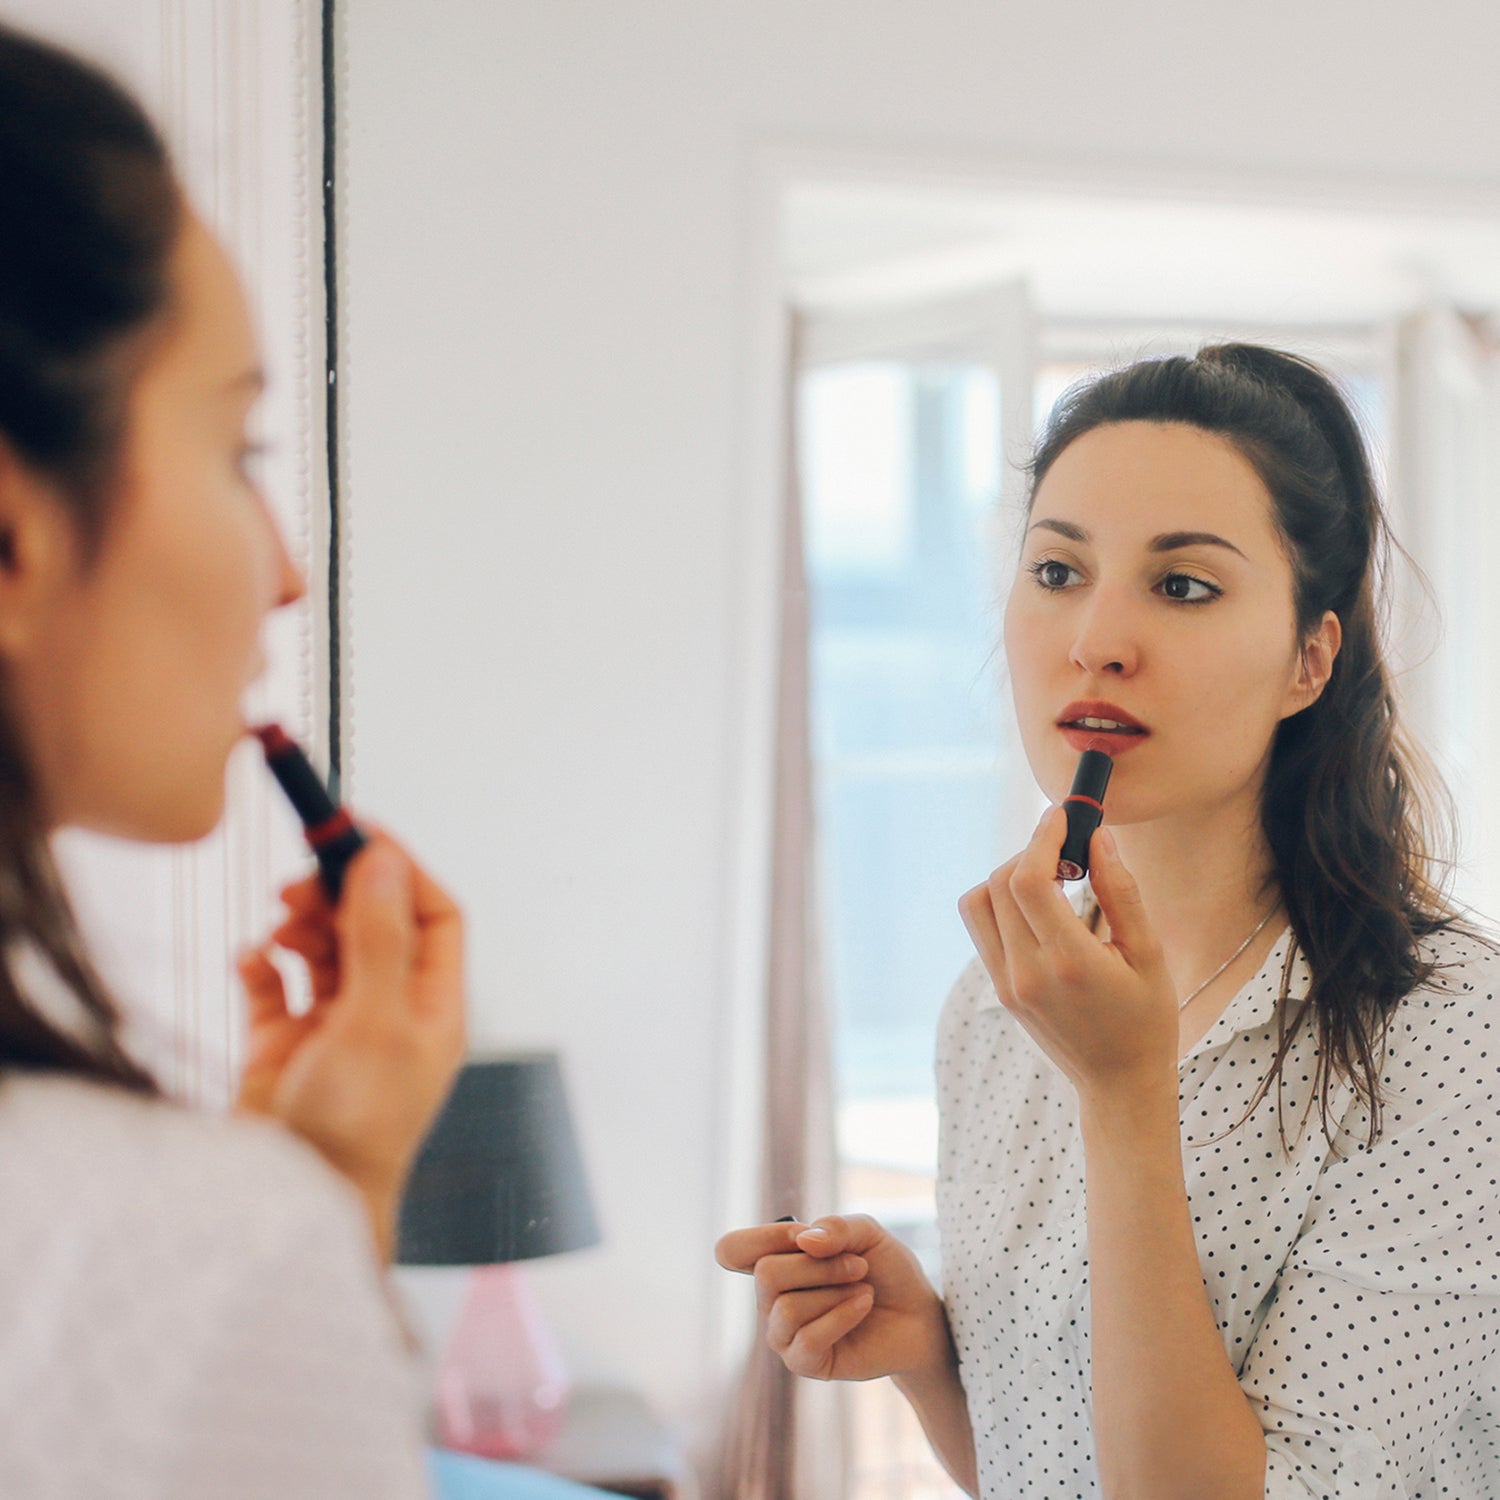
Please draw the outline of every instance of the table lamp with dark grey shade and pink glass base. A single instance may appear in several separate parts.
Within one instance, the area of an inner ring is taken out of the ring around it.
[[[518,1262],[598,1244],[555,1053],[472,1062],[423,1142],[396,1260],[472,1266],[438,1370],[438,1442],[526,1458],[562,1424],[568,1380]]]

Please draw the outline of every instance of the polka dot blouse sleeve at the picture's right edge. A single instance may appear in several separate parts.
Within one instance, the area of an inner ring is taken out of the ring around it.
[[[1406,1500],[1492,1382],[1497,1041],[1467,1000],[1398,1012],[1382,1138],[1340,1143],[1240,1371],[1266,1500]]]

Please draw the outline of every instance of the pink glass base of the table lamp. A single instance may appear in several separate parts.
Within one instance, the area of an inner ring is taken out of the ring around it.
[[[476,1266],[438,1370],[438,1442],[530,1458],[562,1425],[567,1372],[520,1266]]]

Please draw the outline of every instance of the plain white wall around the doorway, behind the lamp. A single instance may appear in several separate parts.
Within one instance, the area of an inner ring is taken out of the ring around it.
[[[1494,195],[1500,10],[358,0],[339,24],[354,792],[468,908],[476,1036],[564,1053],[606,1244],[537,1268],[558,1323],[686,1418],[756,894],[760,153]]]

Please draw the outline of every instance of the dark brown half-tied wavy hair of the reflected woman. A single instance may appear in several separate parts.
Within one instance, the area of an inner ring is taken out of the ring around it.
[[[1311,1022],[1324,1131],[1332,1083],[1346,1078],[1370,1110],[1372,1143],[1384,1024],[1432,975],[1424,939],[1456,916],[1443,886],[1448,801],[1400,734],[1380,652],[1376,576],[1392,540],[1359,426],[1323,370],[1278,350],[1222,344],[1142,360],[1062,398],[1032,459],[1032,495],[1070,442],[1120,422],[1186,423],[1232,442],[1270,494],[1299,638],[1324,610],[1342,626],[1328,686],[1281,722],[1266,776],[1262,828],[1312,986],[1293,1016],[1278,1006],[1276,1054],[1250,1108],[1274,1083],[1280,1100],[1287,1053]]]

